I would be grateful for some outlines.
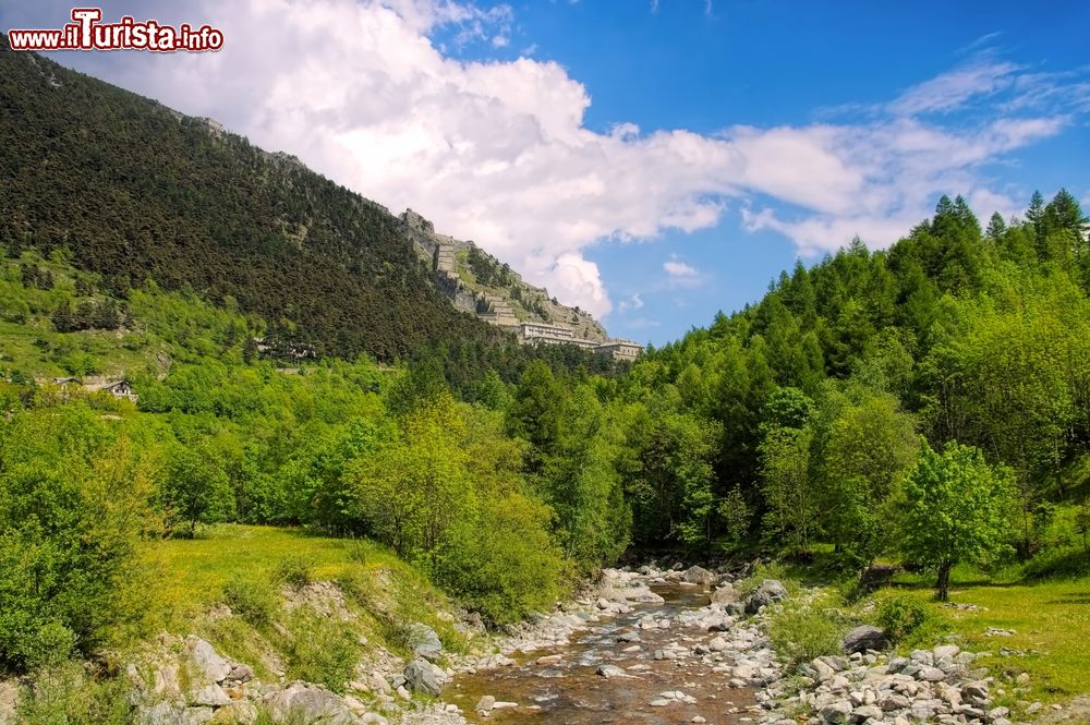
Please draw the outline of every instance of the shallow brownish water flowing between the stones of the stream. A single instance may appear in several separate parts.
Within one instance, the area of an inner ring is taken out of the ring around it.
[[[749,721],[747,708],[752,691],[731,689],[727,675],[712,672],[714,663],[702,657],[655,660],[656,650],[671,643],[691,649],[706,642],[714,632],[698,627],[680,627],[673,618],[708,603],[699,588],[667,584],[653,588],[665,599],[662,604],[635,604],[629,614],[603,617],[589,623],[571,644],[536,650],[519,655],[517,664],[497,669],[462,674],[444,689],[443,699],[457,704],[471,723],[513,725],[516,723],[634,723],[673,725],[703,717],[707,723],[730,724]],[[669,629],[640,629],[641,618],[670,618]],[[639,635],[639,641],[621,641]],[[638,650],[632,650],[638,647]],[[626,650],[632,651],[626,651]],[[561,655],[555,664],[537,664],[548,655]],[[616,665],[630,677],[604,677],[601,665]],[[635,669],[629,669],[635,666]],[[662,693],[680,691],[681,699]],[[517,708],[494,710],[485,715],[475,706],[482,696],[517,703]],[[692,699],[694,702],[690,702]],[[658,705],[651,702],[658,700]],[[666,700],[667,704],[661,704]]]

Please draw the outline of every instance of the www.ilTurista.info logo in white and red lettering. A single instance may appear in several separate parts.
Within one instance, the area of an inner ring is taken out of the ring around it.
[[[137,22],[125,15],[118,23],[102,23],[100,8],[74,8],[72,22],[60,29],[8,32],[12,50],[152,50],[203,52],[223,47],[223,33],[210,25],[178,27],[157,21]]]

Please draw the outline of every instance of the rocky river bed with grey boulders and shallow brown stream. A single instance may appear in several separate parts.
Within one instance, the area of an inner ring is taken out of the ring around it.
[[[140,725],[252,725],[261,713],[318,725],[1012,725],[993,700],[1002,689],[955,643],[895,656],[881,630],[862,626],[843,654],[785,672],[766,629],[787,590],[765,580],[743,596],[731,580],[700,567],[608,569],[557,611],[474,638],[470,654],[443,652],[420,625],[413,658],[375,648],[341,693],[268,664],[275,677],[263,682],[199,638],[164,635],[125,668],[130,700]],[[332,584],[304,593],[329,604],[327,616],[339,611]],[[0,709],[4,722],[14,721]]]

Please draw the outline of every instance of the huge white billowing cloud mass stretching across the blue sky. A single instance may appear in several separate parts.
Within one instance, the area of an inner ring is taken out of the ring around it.
[[[112,1],[107,17],[130,12]],[[509,5],[160,2],[147,14],[213,22],[225,32],[223,50],[57,59],[295,154],[395,213],[412,206],[597,315],[614,304],[585,257],[596,242],[704,229],[738,208],[744,228],[775,230],[803,253],[835,250],[857,233],[888,244],[940,193],[1014,208],[989,189],[981,167],[1058,133],[1081,112],[1074,101],[1056,107],[1070,98],[1061,89],[1080,87],[1079,77],[1028,83],[1026,69],[983,55],[848,120],[756,128],[724,119],[715,134],[619,123],[600,133],[583,123],[590,93],[558,63],[525,56],[471,62],[446,45],[509,44]],[[56,26],[70,7],[3,3],[9,26]],[[985,120],[959,118],[958,130],[946,123],[981,102],[993,106]],[[1002,104],[1008,110],[998,114]],[[666,265],[675,282],[701,279],[680,261]]]

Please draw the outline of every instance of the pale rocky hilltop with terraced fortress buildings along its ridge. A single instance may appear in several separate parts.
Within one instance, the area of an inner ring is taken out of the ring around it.
[[[412,209],[398,217],[405,238],[431,265],[436,282],[453,305],[518,335],[521,342],[574,345],[617,360],[634,360],[643,346],[610,339],[590,313],[560,304],[548,290],[525,282],[472,241],[435,231],[435,225]]]

